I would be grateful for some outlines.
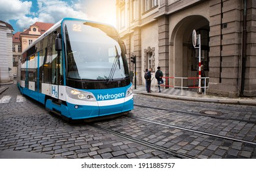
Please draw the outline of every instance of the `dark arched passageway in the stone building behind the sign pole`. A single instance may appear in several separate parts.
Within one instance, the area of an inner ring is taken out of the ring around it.
[[[201,35],[201,64],[205,65],[206,75],[209,71],[209,32],[207,18],[200,15],[186,16],[180,20],[170,34],[170,75],[175,77],[196,77],[198,69],[198,50],[192,45],[192,31]],[[181,79],[173,83],[181,85]],[[183,85],[192,85],[193,80],[184,80]]]

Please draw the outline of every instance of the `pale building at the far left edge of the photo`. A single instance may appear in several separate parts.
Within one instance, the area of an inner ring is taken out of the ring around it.
[[[12,32],[13,27],[0,21],[0,84],[13,81]]]

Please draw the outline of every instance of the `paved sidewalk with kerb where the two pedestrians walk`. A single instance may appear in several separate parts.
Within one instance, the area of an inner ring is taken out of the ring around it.
[[[241,104],[241,105],[249,105],[249,106],[256,106],[256,97],[244,97],[244,98],[227,98],[221,96],[213,96],[213,95],[204,95],[198,94],[194,91],[189,90],[182,90],[181,89],[163,89],[161,87],[161,93],[159,93],[159,89],[157,86],[151,87],[152,92],[147,93],[145,89],[145,85],[137,85],[136,89],[134,89],[133,85],[133,93],[134,94],[143,94],[149,96],[156,96],[161,98],[170,98],[174,100],[186,100],[186,101],[199,101],[199,102],[208,102],[208,103],[221,103],[221,104]]]

